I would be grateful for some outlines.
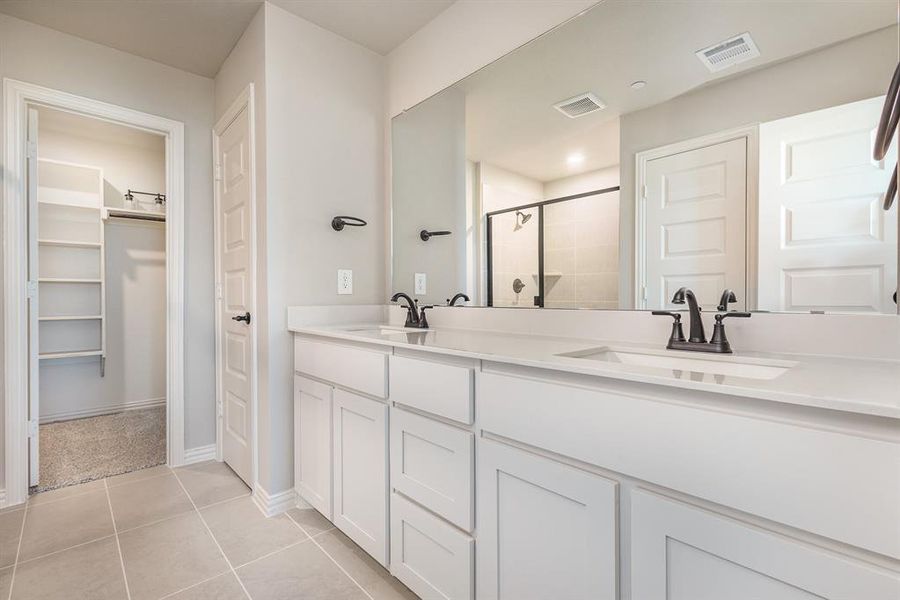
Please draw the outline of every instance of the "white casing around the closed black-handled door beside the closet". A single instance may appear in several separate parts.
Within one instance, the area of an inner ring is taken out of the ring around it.
[[[237,95],[225,113],[216,121],[212,131],[213,143],[213,255],[215,256],[215,298],[216,298],[216,460],[224,460],[223,456],[223,426],[224,426],[224,393],[222,385],[222,374],[224,359],[222,353],[222,282],[219,281],[219,269],[222,265],[221,256],[219,256],[219,242],[221,241],[222,232],[219,222],[219,206],[222,198],[219,190],[221,184],[221,165],[219,164],[219,139],[229,125],[234,122],[235,118],[242,110],[247,110],[247,122],[249,129],[249,166],[250,166],[250,288],[251,298],[253,300],[253,310],[259,314],[258,294],[256,290],[256,260],[257,260],[257,230],[256,230],[256,113],[254,106],[254,85],[247,84]],[[250,324],[250,465],[251,465],[251,487],[255,492],[260,488],[259,480],[259,437],[258,431],[258,396],[257,396],[257,331],[259,320],[254,315]]]

